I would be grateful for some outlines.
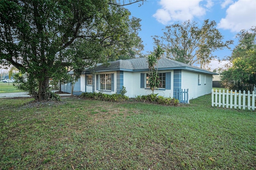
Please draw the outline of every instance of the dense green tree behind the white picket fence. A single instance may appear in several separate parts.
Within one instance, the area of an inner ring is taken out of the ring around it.
[[[256,85],[256,27],[236,35],[239,44],[229,58],[232,66],[222,70],[221,84],[232,90],[250,90]]]

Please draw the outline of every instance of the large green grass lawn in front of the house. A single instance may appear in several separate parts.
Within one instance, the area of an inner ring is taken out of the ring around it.
[[[256,112],[78,98],[0,99],[0,169],[255,169]]]

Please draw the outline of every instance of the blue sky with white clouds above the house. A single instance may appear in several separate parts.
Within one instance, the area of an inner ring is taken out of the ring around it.
[[[139,36],[144,44],[144,54],[153,51],[152,36],[163,34],[166,26],[184,21],[196,21],[201,26],[204,20],[216,21],[216,28],[224,36],[223,41],[234,40],[231,50],[214,52],[220,59],[230,56],[238,45],[236,34],[242,29],[256,26],[256,0],[147,0],[141,6],[125,6],[131,16],[142,21]],[[226,61],[212,61],[211,70],[224,67]]]

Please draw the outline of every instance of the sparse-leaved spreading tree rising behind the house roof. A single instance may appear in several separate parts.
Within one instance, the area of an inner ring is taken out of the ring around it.
[[[186,64],[200,64],[203,68],[214,59],[216,50],[229,48],[233,41],[223,42],[215,21],[204,20],[202,27],[195,21],[185,21],[166,26],[162,37],[154,36],[156,44],[160,44],[167,58]]]

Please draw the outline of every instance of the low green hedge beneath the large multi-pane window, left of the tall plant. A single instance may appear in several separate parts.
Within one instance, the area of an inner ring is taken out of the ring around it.
[[[128,96],[124,96],[122,94],[104,94],[101,92],[99,92],[99,93],[85,92],[80,95],[80,98],[102,100],[102,101],[107,101],[107,102],[124,102],[129,99]]]

